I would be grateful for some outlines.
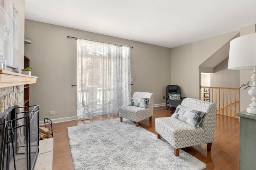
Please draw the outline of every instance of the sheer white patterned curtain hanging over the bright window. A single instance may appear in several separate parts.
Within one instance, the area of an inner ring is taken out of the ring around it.
[[[130,48],[78,39],[78,119],[118,113],[131,97]]]

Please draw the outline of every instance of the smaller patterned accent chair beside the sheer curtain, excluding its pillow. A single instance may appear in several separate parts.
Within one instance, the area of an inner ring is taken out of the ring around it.
[[[152,121],[153,116],[153,106],[154,106],[154,93],[148,92],[134,92],[132,98],[149,98],[148,106],[146,108],[137,107],[137,106],[123,106],[119,108],[119,117],[120,121],[123,121],[123,118],[129,119],[136,122],[136,126],[139,126],[139,122],[147,119]]]

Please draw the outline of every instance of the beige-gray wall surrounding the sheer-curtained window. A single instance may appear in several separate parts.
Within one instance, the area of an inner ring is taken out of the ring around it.
[[[170,48],[25,20],[25,35],[32,44],[25,46],[32,75],[30,105],[40,105],[40,121],[48,117],[55,122],[76,118],[76,40],[67,36],[103,41],[131,48],[132,94],[153,92],[154,104],[165,103],[166,86],[171,83]],[[55,111],[49,115],[49,111]]]

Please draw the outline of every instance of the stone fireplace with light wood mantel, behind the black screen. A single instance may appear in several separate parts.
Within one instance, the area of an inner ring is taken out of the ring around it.
[[[15,155],[16,169],[20,169],[20,168],[17,168],[19,167],[19,165],[17,165],[17,163],[19,162],[19,159],[22,160],[22,156],[20,156],[22,154],[20,153],[23,153],[26,150],[31,150],[30,153],[32,152],[32,155],[33,155],[37,152],[37,149],[34,147],[34,144],[38,143],[38,135],[37,135],[37,139],[35,139],[34,137],[32,137],[32,135],[30,135],[32,134],[30,132],[31,130],[29,130],[28,132],[27,129],[29,129],[28,127],[31,126],[30,129],[38,131],[39,106],[36,107],[36,111],[32,111],[29,107],[23,107],[24,84],[36,83],[37,78],[38,77],[35,77],[35,76],[27,76],[24,74],[9,72],[6,70],[0,70],[0,120],[3,121],[3,117],[4,117],[4,114],[6,114],[6,110],[8,111],[10,108],[12,108],[12,111],[10,111],[8,114],[12,115],[12,119],[17,119],[15,121],[12,121],[12,124],[14,124],[13,125],[14,129],[15,128],[16,129],[14,130],[14,136],[15,136],[14,144],[12,144],[10,147],[10,148],[15,148],[14,154],[16,154]],[[17,107],[21,107],[21,108],[17,108]],[[26,123],[26,121],[29,123]],[[2,143],[1,135],[3,135],[3,125],[1,125],[0,127],[0,139],[1,139],[0,144]],[[24,141],[22,141],[22,139],[24,139],[24,136],[27,138],[25,139],[26,146],[23,145]],[[31,144],[30,142],[27,142],[27,141],[30,141]],[[28,153],[25,152],[23,157],[26,157],[27,155]],[[37,157],[37,153],[36,153],[36,157]],[[27,160],[28,160],[28,157],[27,157]],[[9,161],[11,162],[12,160],[9,160]],[[31,160],[28,160],[28,161],[31,161]],[[23,162],[26,162],[26,161],[23,161]],[[34,164],[34,162],[32,162],[31,164]],[[34,165],[32,166],[34,167]],[[31,168],[33,168],[30,166],[30,164],[28,165],[28,163],[24,167],[25,168],[22,168],[22,169],[30,170]],[[10,163],[9,169],[13,169],[13,167],[11,166],[11,163]]]

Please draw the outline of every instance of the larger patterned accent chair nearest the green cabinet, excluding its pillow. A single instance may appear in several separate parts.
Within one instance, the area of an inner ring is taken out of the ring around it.
[[[158,139],[163,137],[174,147],[174,155],[178,156],[181,148],[207,144],[207,150],[211,151],[214,141],[216,104],[198,99],[185,98],[182,106],[197,111],[206,112],[199,127],[176,119],[175,117],[159,117],[155,119]]]

